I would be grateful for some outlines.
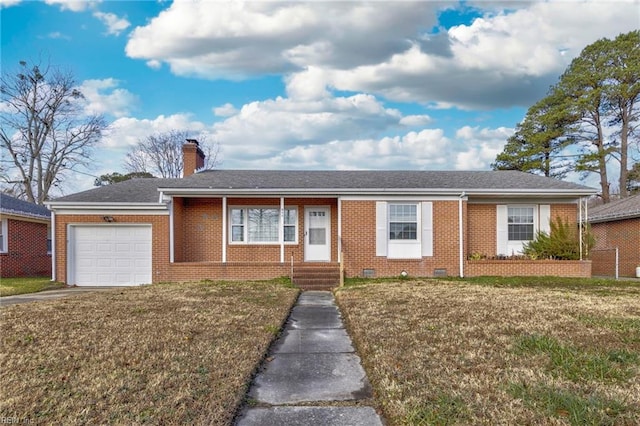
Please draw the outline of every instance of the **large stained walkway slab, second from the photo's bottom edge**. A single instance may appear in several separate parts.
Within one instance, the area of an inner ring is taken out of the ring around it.
[[[371,397],[371,386],[353,353],[274,354],[249,396],[271,405],[351,401]]]

